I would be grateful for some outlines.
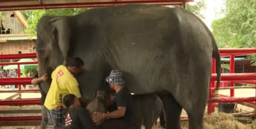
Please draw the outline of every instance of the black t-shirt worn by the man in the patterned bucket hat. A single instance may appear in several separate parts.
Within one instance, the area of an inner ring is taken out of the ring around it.
[[[124,116],[117,119],[122,119],[127,124],[133,126],[134,122],[133,122],[133,112],[132,112],[132,95],[127,87],[123,87],[116,93],[114,101],[110,105],[108,111],[110,112],[115,111],[117,110],[117,107],[126,107]]]

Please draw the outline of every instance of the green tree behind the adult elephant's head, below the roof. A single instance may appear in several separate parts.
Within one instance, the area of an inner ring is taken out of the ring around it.
[[[27,22],[29,27],[25,30],[26,33],[31,34],[32,36],[36,35],[36,24],[39,19],[44,15],[51,16],[63,16],[63,15],[76,15],[80,12],[83,12],[87,9],[51,9],[51,10],[33,10],[33,11],[22,11],[24,15],[28,17]]]

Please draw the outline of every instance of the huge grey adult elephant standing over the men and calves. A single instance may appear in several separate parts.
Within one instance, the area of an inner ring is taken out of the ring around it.
[[[123,72],[135,94],[157,93],[167,129],[180,129],[182,108],[189,129],[203,129],[212,57],[220,83],[220,53],[211,31],[182,8],[127,4],[95,8],[75,16],[44,16],[37,25],[39,76],[81,57],[81,94],[92,98],[112,69]],[[44,83],[47,92],[49,84]]]

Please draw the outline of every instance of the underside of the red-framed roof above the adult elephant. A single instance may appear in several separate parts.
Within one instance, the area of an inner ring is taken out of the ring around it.
[[[182,5],[194,0],[0,0],[0,11],[92,8],[120,4]]]

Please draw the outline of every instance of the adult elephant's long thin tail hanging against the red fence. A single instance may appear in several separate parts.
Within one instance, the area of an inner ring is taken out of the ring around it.
[[[217,91],[220,87],[221,61],[220,61],[220,52],[213,35],[212,35],[212,45],[213,45],[212,57],[215,58],[215,70],[217,73],[217,86],[216,86],[216,91]]]

